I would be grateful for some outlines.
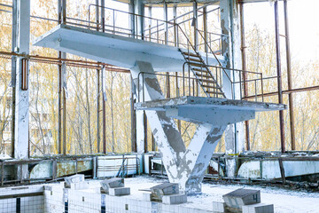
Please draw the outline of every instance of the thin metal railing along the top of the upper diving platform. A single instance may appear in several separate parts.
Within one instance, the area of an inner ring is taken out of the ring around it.
[[[91,16],[93,14],[91,12],[92,7],[100,8],[101,10],[103,10],[104,15],[102,17],[102,20],[100,20],[99,22],[91,20]],[[198,8],[198,11],[200,9],[202,9],[202,7]],[[209,12],[214,12],[218,9],[219,8],[211,10]],[[180,25],[187,21],[191,21],[191,19],[184,19],[182,21],[178,20],[182,19],[189,13],[191,12],[186,12],[179,17],[175,17],[175,19],[173,20],[166,21],[139,15],[132,12],[124,12],[97,4],[89,4],[88,20],[79,20],[67,17],[66,24],[93,30],[97,29],[99,31],[119,36],[134,37],[136,39],[142,39],[144,41],[149,41],[152,43],[161,43],[186,48],[187,41],[183,37],[183,34],[181,32],[183,29],[180,28]],[[105,17],[107,17],[107,19]],[[117,17],[121,17],[121,19],[118,20]],[[222,36],[224,35],[216,34],[213,32],[206,32],[206,35],[207,41],[209,41],[208,43],[216,48],[214,52],[219,52],[221,50]],[[192,44],[195,45],[194,43]],[[197,46],[201,45],[203,45],[203,43],[197,44]]]

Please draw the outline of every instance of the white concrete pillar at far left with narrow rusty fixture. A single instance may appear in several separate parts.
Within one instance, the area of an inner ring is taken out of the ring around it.
[[[30,1],[17,0],[16,16],[13,27],[16,28],[15,51],[20,54],[29,53],[30,43]],[[15,76],[15,123],[14,123],[14,155],[15,159],[27,159],[29,155],[29,91],[28,91],[29,67],[27,57],[18,57],[16,61]],[[22,165],[17,170],[18,178],[28,176],[27,165]]]

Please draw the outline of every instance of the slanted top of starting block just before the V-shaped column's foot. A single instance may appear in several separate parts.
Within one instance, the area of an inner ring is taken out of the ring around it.
[[[179,193],[178,184],[165,183],[160,185],[155,185],[151,188],[152,201],[162,201],[164,195]]]

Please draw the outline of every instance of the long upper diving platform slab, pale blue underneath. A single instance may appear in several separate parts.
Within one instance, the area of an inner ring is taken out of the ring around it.
[[[64,24],[36,38],[33,44],[128,69],[136,61],[145,61],[157,72],[179,72],[185,62],[178,47]],[[199,53],[206,60],[206,53]],[[224,62],[222,56],[217,57]],[[212,66],[218,64],[212,54],[208,54],[208,60]]]

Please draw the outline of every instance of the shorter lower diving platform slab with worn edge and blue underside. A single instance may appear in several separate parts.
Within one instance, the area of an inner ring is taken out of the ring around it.
[[[184,96],[136,103],[137,110],[164,111],[168,117],[194,123],[229,125],[255,118],[256,112],[284,110],[285,105],[237,99]]]

